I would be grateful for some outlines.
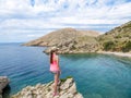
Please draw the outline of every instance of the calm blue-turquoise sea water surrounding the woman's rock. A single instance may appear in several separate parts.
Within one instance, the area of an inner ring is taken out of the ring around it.
[[[0,44],[0,75],[10,77],[10,94],[48,83],[49,57],[41,47]],[[62,77],[73,76],[84,98],[131,98],[131,59],[105,54],[61,54]]]

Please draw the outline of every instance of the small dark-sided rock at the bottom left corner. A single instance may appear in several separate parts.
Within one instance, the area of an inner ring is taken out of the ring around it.
[[[9,82],[7,76],[0,76],[0,98],[2,98],[2,90],[8,86]]]

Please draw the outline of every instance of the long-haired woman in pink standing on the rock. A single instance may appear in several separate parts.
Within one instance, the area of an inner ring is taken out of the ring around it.
[[[50,51],[50,72],[55,74],[55,86],[53,86],[53,96],[58,94],[58,84],[59,84],[59,76],[60,76],[60,66],[59,66],[59,58],[57,54],[58,49],[53,49]]]

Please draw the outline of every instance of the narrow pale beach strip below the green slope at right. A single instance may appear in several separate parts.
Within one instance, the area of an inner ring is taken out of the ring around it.
[[[130,52],[110,52],[110,51],[97,51],[97,53],[103,53],[103,54],[114,54],[114,56],[120,56],[120,57],[129,57],[131,58]]]

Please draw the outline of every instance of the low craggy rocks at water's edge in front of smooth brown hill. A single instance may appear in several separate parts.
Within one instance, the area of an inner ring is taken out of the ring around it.
[[[94,37],[84,36],[59,42],[56,47],[59,48],[59,53],[86,53],[96,52],[99,49],[99,44]],[[51,47],[48,47],[44,52],[49,53]]]

